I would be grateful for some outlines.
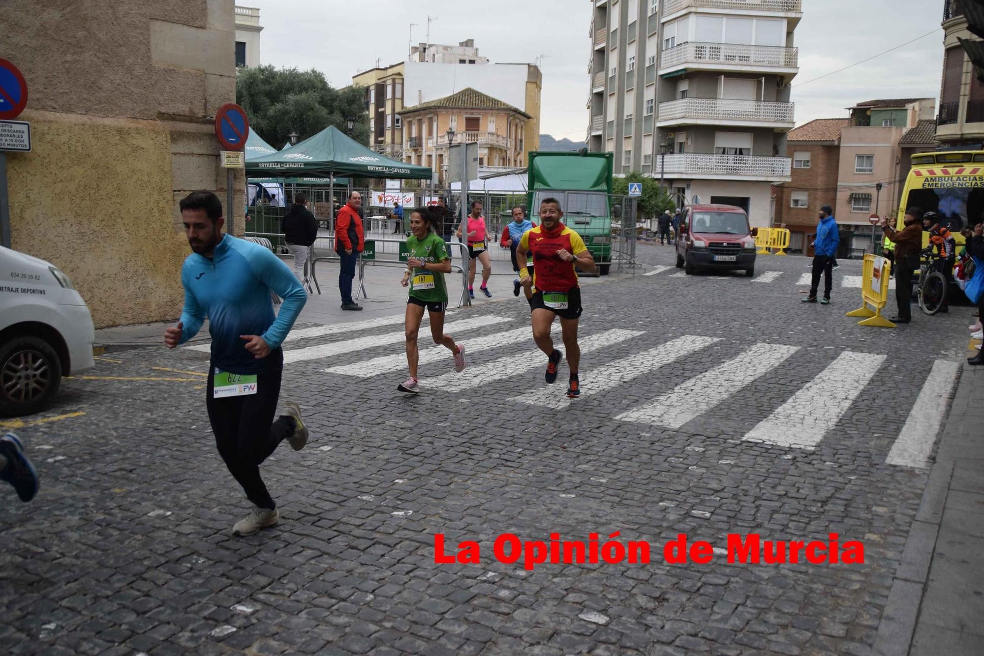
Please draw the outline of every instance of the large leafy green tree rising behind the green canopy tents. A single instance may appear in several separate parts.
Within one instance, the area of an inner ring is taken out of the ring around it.
[[[240,68],[236,72],[236,103],[246,110],[251,130],[279,148],[297,133],[302,142],[330,125],[348,134],[345,119],[355,120],[352,139],[369,143],[365,89],[333,89],[315,69],[277,70],[273,66]]]

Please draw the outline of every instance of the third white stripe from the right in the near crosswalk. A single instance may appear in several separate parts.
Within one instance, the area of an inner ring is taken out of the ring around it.
[[[680,428],[762,378],[798,350],[797,346],[760,342],[738,357],[615,418]]]

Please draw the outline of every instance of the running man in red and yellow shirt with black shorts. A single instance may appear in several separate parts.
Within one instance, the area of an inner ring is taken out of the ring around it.
[[[531,289],[533,340],[546,353],[546,382],[557,380],[557,368],[564,354],[554,348],[550,326],[560,317],[561,335],[567,349],[567,362],[571,368],[571,383],[567,395],[575,398],[581,394],[578,365],[581,363],[581,347],[578,346],[578,321],[581,318],[581,287],[575,267],[584,271],[594,270],[584,240],[577,232],[560,222],[564,212],[557,199],[548,198],[540,203],[540,224],[523,233],[516,250],[517,262],[526,262],[526,253],[533,256],[533,277],[525,267],[520,269],[520,282]]]

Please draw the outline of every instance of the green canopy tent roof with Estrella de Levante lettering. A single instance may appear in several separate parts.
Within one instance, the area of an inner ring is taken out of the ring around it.
[[[287,151],[246,160],[247,175],[322,176],[356,175],[363,178],[430,180],[427,166],[387,157],[346,137],[338,128],[325,128]]]

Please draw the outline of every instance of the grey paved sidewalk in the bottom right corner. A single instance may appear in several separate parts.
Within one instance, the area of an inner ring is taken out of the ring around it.
[[[984,367],[964,364],[876,654],[984,654],[982,541]]]

